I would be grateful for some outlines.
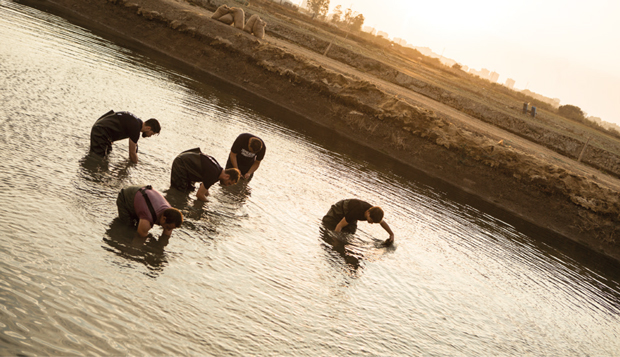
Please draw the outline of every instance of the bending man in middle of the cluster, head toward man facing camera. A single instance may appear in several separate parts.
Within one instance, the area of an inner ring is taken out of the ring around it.
[[[170,187],[179,191],[191,192],[194,183],[200,182],[196,197],[203,202],[207,201],[209,187],[218,180],[222,186],[234,185],[239,181],[241,173],[236,168],[222,169],[213,157],[205,155],[200,148],[190,149],[180,153],[172,162]]]

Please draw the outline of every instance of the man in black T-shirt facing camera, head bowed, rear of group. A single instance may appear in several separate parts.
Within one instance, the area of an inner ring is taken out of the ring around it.
[[[258,170],[266,151],[267,147],[261,138],[243,133],[235,139],[230,149],[226,168],[239,169],[241,176],[250,180],[254,176],[254,172]]]

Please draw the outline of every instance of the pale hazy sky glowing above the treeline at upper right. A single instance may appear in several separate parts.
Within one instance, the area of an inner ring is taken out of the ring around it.
[[[620,125],[620,1],[331,0],[364,26]]]

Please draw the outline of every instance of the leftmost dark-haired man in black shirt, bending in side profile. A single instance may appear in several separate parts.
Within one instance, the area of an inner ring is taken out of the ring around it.
[[[112,143],[129,138],[129,159],[138,162],[138,139],[159,134],[161,126],[157,119],[146,122],[129,112],[110,110],[97,119],[90,131],[90,152],[98,156],[106,156],[112,151]]]

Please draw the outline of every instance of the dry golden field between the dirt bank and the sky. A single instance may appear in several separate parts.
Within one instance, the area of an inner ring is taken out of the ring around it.
[[[236,0],[190,0],[214,10]],[[245,2],[242,2],[245,3]],[[425,95],[487,123],[522,136],[577,159],[586,142],[582,161],[606,173],[620,177],[618,133],[595,123],[578,122],[557,114],[551,105],[491,83],[461,70],[444,66],[436,58],[404,48],[382,37],[363,32],[349,33],[322,20],[281,6],[270,0],[255,0],[246,6],[248,14],[258,13],[267,20],[267,33],[288,42],[324,54],[357,70],[390,81]],[[537,107],[532,118],[522,113],[523,103]]]

